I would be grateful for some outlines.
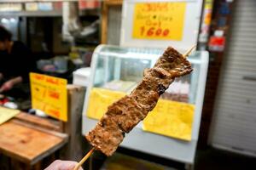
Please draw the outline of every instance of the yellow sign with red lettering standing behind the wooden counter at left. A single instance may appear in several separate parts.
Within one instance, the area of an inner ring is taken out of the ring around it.
[[[32,108],[67,122],[67,80],[30,73]]]

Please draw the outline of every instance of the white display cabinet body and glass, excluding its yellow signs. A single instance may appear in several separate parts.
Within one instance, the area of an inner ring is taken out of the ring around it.
[[[152,67],[163,52],[164,49],[157,48],[121,48],[110,45],[99,45],[96,48],[92,56],[90,83],[84,99],[84,135],[98,122],[86,115],[91,89],[111,88],[111,90],[123,91],[128,94],[137,82],[142,80],[143,70]],[[195,105],[191,140],[184,141],[145,132],[142,123],[139,123],[131,133],[126,134],[124,141],[120,144],[121,147],[184,163],[194,163],[207,80],[208,53],[207,51],[196,51],[189,55],[189,61],[192,63],[194,71],[188,76],[180,78],[176,86],[179,87],[178,83],[189,84],[189,86],[185,85],[183,89],[187,93],[186,97],[178,99],[184,99],[183,102]],[[169,89],[171,92],[175,86],[172,87],[172,85]],[[100,106],[101,103],[97,105]]]

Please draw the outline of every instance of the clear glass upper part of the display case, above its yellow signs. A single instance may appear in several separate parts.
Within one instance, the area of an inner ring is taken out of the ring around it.
[[[96,61],[95,87],[130,93],[143,78],[143,71],[154,65],[159,49],[104,47]],[[177,78],[162,95],[162,99],[195,104],[200,74],[200,53],[189,56],[194,71]]]

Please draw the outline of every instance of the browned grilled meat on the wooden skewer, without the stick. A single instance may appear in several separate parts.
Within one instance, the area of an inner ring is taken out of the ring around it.
[[[96,127],[86,135],[86,139],[96,150],[111,156],[138,122],[142,121],[148,111],[152,111],[166,88],[174,81],[192,71],[187,59],[174,48],[167,48],[152,69],[144,71],[143,81],[130,95],[114,102],[108,107]]]

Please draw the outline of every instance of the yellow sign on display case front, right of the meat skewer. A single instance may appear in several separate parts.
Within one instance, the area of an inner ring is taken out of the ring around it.
[[[195,105],[160,99],[143,121],[143,130],[191,140]]]

